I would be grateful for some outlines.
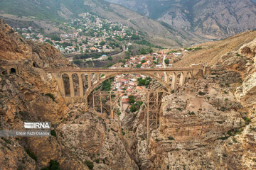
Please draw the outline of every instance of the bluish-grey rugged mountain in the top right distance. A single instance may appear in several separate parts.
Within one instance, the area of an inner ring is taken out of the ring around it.
[[[256,28],[256,0],[107,0],[206,38]]]

